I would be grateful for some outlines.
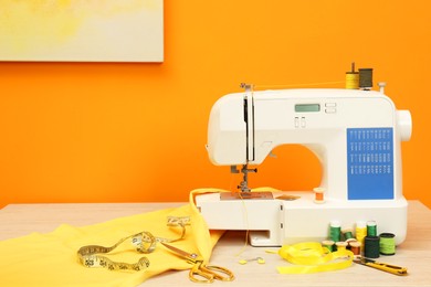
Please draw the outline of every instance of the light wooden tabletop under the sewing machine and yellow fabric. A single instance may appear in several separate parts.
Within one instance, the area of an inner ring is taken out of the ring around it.
[[[84,226],[112,219],[180,206],[185,203],[80,203],[80,204],[10,204],[0,210],[0,240],[48,233],[62,223]],[[431,211],[419,201],[409,201],[408,235],[397,247],[395,256],[378,261],[407,267],[404,277],[361,265],[319,274],[281,275],[276,266],[286,265],[277,255],[262,247],[246,246],[245,232],[228,232],[213,251],[211,263],[230,268],[236,278],[232,283],[216,281],[218,286],[431,286]],[[235,256],[243,249],[241,256]],[[275,248],[272,248],[275,249]],[[263,257],[265,264],[240,258]],[[141,286],[197,286],[189,281],[188,272],[168,272],[150,278]]]

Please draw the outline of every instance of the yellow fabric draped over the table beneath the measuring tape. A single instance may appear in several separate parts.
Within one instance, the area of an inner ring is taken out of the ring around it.
[[[145,214],[120,217],[108,222],[74,227],[60,225],[55,231],[0,242],[0,284],[1,286],[136,286],[147,278],[168,269],[188,269],[186,261],[175,256],[158,245],[150,254],[139,254],[127,243],[107,256],[113,261],[136,263],[146,256],[150,261],[148,269],[143,272],[108,270],[106,268],[86,268],[78,263],[76,252],[90,244],[112,246],[119,238],[141,231],[154,236],[175,238],[180,228],[166,225],[167,216],[190,216],[183,240],[175,246],[188,252],[199,253],[206,262],[222,232],[210,232],[193,204],[193,194],[211,192],[197,190],[190,193],[190,204],[155,211]],[[78,212],[78,211],[76,211]],[[187,276],[187,275],[185,275]]]

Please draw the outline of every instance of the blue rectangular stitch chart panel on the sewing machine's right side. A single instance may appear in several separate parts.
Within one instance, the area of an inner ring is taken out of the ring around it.
[[[348,200],[393,199],[393,129],[347,129]]]

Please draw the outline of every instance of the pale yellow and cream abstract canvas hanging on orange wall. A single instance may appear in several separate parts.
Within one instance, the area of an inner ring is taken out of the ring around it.
[[[0,61],[162,62],[164,0],[1,0]]]

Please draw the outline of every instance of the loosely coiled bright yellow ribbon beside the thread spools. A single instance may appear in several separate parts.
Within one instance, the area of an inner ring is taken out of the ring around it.
[[[278,251],[278,255],[293,266],[280,266],[280,274],[307,274],[329,272],[347,268],[351,265],[354,253],[340,249],[330,253],[317,242],[285,245]]]

